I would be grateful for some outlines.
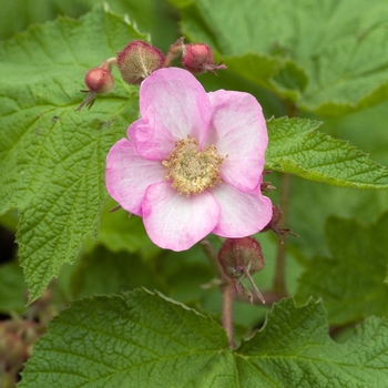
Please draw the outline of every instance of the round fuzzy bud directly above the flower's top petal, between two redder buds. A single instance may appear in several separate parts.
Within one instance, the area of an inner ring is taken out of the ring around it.
[[[162,51],[142,40],[133,40],[118,53],[121,76],[130,85],[141,84],[153,71],[161,69],[163,63]]]

